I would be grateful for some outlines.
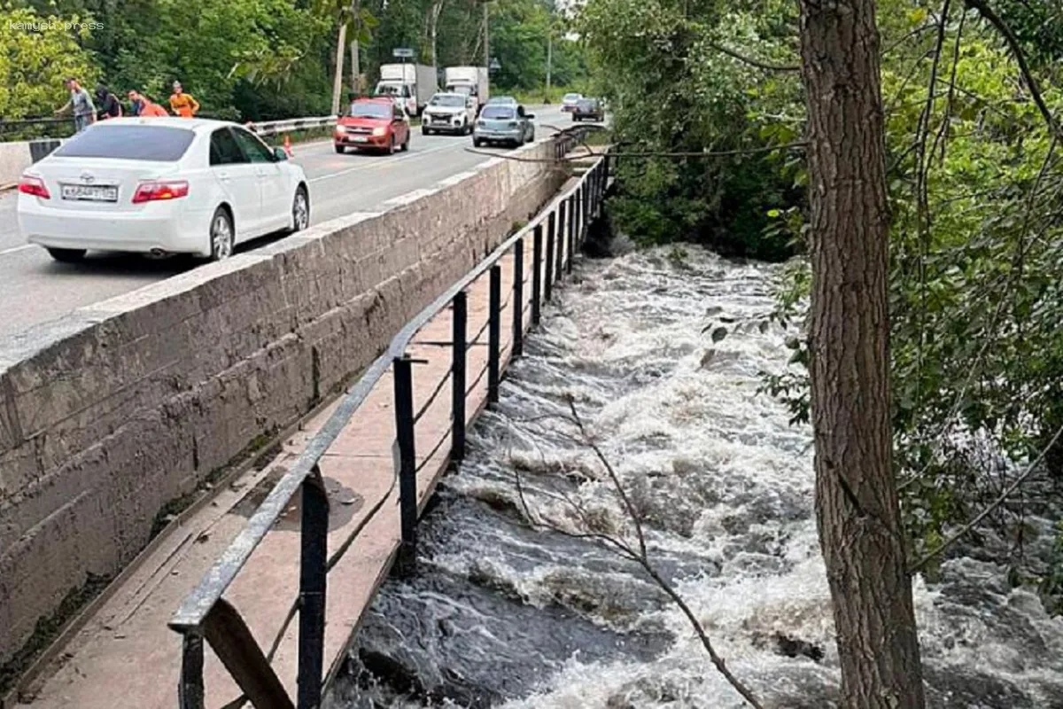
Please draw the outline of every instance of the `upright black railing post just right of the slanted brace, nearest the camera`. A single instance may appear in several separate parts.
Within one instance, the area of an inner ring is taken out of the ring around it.
[[[328,497],[321,470],[302,485],[301,552],[299,560],[299,709],[321,705],[325,653],[325,579],[328,546]]]

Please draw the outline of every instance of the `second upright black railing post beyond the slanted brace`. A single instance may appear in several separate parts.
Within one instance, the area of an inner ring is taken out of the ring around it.
[[[399,445],[399,517],[402,542],[399,573],[412,573],[417,561],[417,448],[414,433],[414,369],[408,357],[392,364],[395,390],[395,442]]]

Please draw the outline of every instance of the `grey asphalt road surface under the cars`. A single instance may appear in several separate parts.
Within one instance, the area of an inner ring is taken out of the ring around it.
[[[535,108],[536,138],[544,126],[569,125],[557,107]],[[384,202],[465,171],[488,157],[466,151],[472,139],[423,136],[415,129],[409,152],[395,155],[337,154],[332,142],[293,146],[294,162],[310,183],[311,223],[352,212],[372,212]],[[505,152],[496,149],[488,152]],[[126,254],[89,253],[81,264],[58,264],[40,247],[18,235],[17,195],[0,196],[0,340],[70,310],[170,277],[201,263],[187,257],[151,259]],[[248,253],[279,237],[256,239],[238,249]]]

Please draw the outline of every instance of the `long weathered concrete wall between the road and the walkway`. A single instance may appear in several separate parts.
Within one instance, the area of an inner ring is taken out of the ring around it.
[[[0,351],[0,663],[89,574],[132,560],[164,505],[372,361],[559,186],[546,164],[492,161]]]

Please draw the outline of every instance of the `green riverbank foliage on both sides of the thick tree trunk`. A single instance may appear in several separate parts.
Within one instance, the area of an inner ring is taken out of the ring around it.
[[[977,9],[878,3],[892,420],[916,556],[999,492],[979,473],[988,453],[973,441],[992,440],[1012,461],[1044,452],[1063,474],[1063,446],[1050,445],[1063,424],[1061,11],[998,4],[1044,106]],[[623,151],[662,153],[620,162],[618,227],[767,259],[806,253],[804,151],[764,150],[806,135],[796,6],[591,0],[583,21],[614,139]],[[701,151],[737,154],[667,154]],[[778,320],[802,322],[809,287],[807,259],[792,261]],[[807,339],[791,344],[807,362]],[[804,370],[769,388],[795,421],[809,420]]]

